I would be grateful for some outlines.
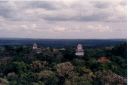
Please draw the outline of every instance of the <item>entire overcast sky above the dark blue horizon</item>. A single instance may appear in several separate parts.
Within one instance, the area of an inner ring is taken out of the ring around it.
[[[0,38],[126,38],[126,17],[126,0],[5,0]]]

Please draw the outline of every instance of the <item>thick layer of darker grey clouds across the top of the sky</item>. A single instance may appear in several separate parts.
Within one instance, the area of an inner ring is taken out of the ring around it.
[[[51,21],[124,21],[125,5],[121,5],[121,2],[123,3],[120,0],[88,0],[86,3],[83,0],[2,2],[0,15],[11,20],[36,18]],[[26,12],[29,14],[26,15]]]

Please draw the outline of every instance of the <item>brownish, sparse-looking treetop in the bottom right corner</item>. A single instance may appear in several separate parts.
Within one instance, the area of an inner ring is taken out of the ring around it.
[[[124,85],[126,79],[113,73],[110,70],[103,70],[96,72],[96,78],[101,82],[102,85]]]

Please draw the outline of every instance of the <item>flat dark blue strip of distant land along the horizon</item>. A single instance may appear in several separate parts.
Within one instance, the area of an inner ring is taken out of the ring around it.
[[[78,43],[89,47],[102,47],[125,42],[127,42],[126,39],[0,39],[0,45],[32,45],[37,43],[44,47],[68,47]]]

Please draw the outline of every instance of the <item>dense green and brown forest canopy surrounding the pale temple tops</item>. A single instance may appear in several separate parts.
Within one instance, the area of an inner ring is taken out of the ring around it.
[[[126,85],[126,44],[86,48],[83,58],[74,47],[53,49],[38,54],[30,46],[0,47],[0,85]],[[102,56],[109,61],[99,62]]]

